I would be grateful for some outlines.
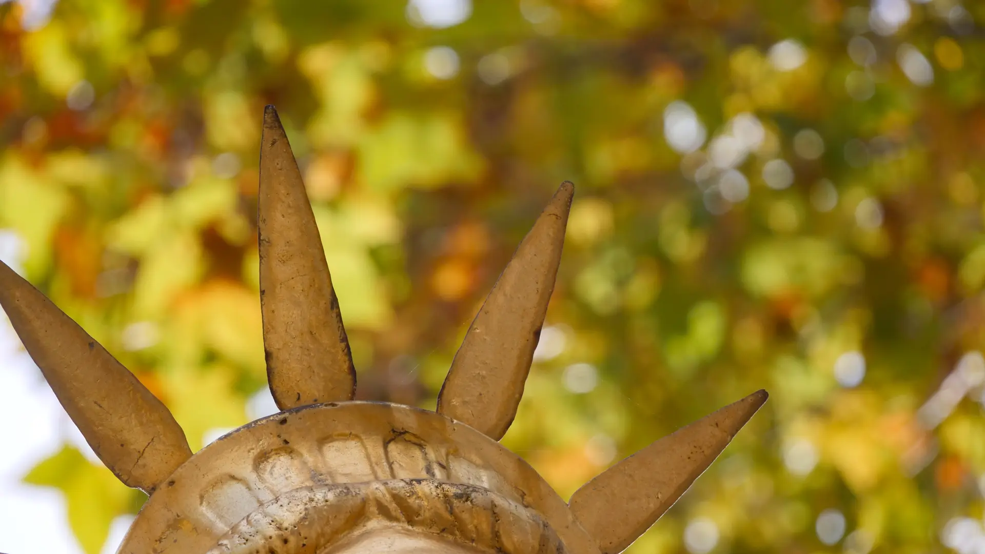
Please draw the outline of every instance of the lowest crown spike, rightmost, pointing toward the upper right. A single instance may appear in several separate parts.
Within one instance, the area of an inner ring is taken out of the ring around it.
[[[622,552],[674,505],[766,401],[765,390],[725,406],[640,450],[571,495],[602,554]]]

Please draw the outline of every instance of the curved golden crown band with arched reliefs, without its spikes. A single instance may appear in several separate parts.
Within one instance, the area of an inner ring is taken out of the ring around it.
[[[122,551],[321,548],[374,521],[503,552],[598,552],[522,458],[437,413],[375,402],[297,408],[209,445],[151,496]]]

